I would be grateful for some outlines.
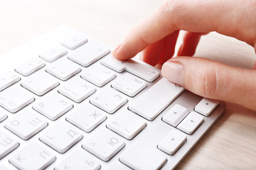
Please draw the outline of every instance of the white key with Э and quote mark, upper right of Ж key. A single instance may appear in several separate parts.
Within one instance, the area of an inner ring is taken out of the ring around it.
[[[114,89],[105,89],[97,96],[91,98],[90,103],[107,113],[114,113],[127,103],[127,98]]]

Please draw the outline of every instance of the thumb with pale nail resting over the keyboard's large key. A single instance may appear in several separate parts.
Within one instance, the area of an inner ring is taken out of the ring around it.
[[[256,70],[198,57],[175,57],[164,63],[162,74],[199,96],[238,103],[256,111]]]

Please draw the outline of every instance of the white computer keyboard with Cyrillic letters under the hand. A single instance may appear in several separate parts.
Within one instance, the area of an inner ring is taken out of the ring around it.
[[[0,169],[174,169],[225,111],[60,26],[0,57]]]

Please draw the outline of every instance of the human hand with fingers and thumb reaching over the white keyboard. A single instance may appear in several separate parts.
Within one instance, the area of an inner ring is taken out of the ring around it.
[[[166,0],[127,34],[113,55],[127,60],[143,50],[142,60],[153,66],[164,64],[161,72],[169,81],[200,96],[256,110],[256,70],[198,57],[171,58],[179,30],[188,31],[179,56],[192,56],[201,35],[211,31],[255,47],[255,9],[256,1],[251,0]]]

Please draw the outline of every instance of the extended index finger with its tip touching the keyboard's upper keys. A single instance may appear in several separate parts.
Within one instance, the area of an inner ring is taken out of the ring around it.
[[[256,41],[255,22],[251,22],[256,17],[254,6],[256,1],[250,0],[166,0],[125,36],[113,55],[119,60],[127,60],[175,30],[217,31],[253,45]]]

